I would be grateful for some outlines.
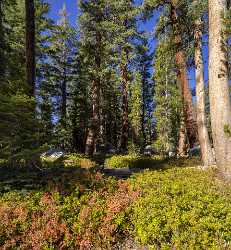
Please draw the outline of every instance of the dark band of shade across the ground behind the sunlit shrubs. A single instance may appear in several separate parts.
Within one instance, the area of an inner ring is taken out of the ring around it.
[[[198,158],[194,159],[165,159],[153,160],[152,164],[146,168],[134,164],[130,168],[112,169],[104,166],[99,168],[84,169],[78,167],[64,167],[62,162],[58,166],[40,168],[17,168],[0,167],[0,192],[5,193],[12,190],[25,191],[46,191],[58,189],[60,193],[69,193],[78,186],[84,186],[91,189],[92,183],[97,184],[97,174],[103,174],[102,178],[115,177],[117,179],[127,179],[131,175],[144,170],[166,170],[172,167],[195,167],[199,165]],[[102,182],[102,180],[101,180]],[[94,185],[95,185],[94,184]]]

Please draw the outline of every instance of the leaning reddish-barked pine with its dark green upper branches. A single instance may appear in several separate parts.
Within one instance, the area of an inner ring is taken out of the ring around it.
[[[145,18],[150,18],[154,10],[158,9],[160,6],[162,15],[159,18],[159,23],[156,28],[157,34],[163,35],[166,31],[171,32],[172,36],[172,46],[175,48],[175,62],[177,68],[177,76],[179,82],[179,88],[181,89],[182,99],[184,102],[184,117],[182,119],[182,129],[181,134],[185,137],[185,132],[187,132],[188,141],[190,147],[193,147],[197,142],[197,124],[195,118],[195,111],[192,102],[192,94],[189,86],[188,76],[187,76],[187,53],[185,53],[185,44],[191,40],[189,36],[187,15],[185,11],[187,10],[186,1],[179,2],[172,1],[150,1],[146,0],[144,2],[144,15]],[[185,127],[185,129],[184,129]],[[182,138],[182,136],[180,138]],[[186,141],[186,140],[180,140]],[[186,145],[180,145],[179,148],[185,148]],[[179,152],[184,154],[185,152]]]

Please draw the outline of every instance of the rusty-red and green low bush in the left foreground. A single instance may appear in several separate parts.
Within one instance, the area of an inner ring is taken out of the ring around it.
[[[100,173],[63,173],[39,190],[0,193],[0,248],[111,249],[139,196]]]

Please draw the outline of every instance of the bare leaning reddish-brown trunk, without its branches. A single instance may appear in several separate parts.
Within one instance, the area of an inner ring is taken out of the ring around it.
[[[193,108],[192,102],[192,93],[189,86],[188,75],[187,75],[187,66],[184,52],[182,51],[182,39],[179,34],[180,27],[177,23],[177,11],[176,3],[172,1],[171,4],[171,21],[173,25],[173,31],[175,35],[175,44],[176,44],[176,65],[177,65],[177,78],[180,83],[180,89],[182,92],[183,105],[184,105],[184,118],[185,126],[187,130],[187,136],[189,140],[190,148],[192,148],[195,143],[198,141],[197,134],[197,123],[195,118],[195,111]]]

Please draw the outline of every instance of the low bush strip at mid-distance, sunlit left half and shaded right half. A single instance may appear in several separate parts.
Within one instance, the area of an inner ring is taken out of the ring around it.
[[[154,168],[160,157],[137,156],[137,155],[114,155],[107,158],[104,166],[107,168]]]

